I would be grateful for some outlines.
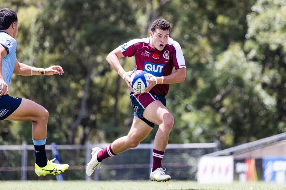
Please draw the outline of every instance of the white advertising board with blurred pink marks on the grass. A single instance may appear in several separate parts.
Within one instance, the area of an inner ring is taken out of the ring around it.
[[[232,156],[203,156],[198,162],[198,183],[232,183]]]

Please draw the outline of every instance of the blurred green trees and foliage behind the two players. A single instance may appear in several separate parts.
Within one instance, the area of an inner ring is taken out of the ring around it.
[[[47,144],[112,142],[133,119],[125,82],[107,54],[149,36],[157,18],[184,52],[187,76],[170,85],[175,124],[169,143],[220,148],[286,132],[286,3],[282,0],[0,0],[18,13],[19,62],[64,75],[16,76],[9,95],[49,111]],[[122,58],[126,71],[133,58]],[[150,142],[155,127],[144,140]],[[1,121],[0,144],[31,140],[31,122]]]

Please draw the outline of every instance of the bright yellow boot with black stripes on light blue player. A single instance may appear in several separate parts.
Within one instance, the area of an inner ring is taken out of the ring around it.
[[[46,176],[47,174],[60,174],[61,172],[65,172],[68,169],[68,164],[56,164],[53,163],[55,158],[51,161],[48,160],[47,165],[44,167],[39,167],[35,163],[35,173],[40,177],[41,175]]]

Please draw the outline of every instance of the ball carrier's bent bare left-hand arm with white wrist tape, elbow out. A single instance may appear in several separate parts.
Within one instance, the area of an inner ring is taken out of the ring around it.
[[[132,72],[124,71],[124,69],[122,68],[119,62],[119,58],[121,57],[124,57],[124,55],[122,54],[120,50],[120,46],[119,46],[118,48],[114,49],[112,52],[108,54],[108,56],[106,57],[106,60],[112,66],[112,68],[126,81],[130,90],[133,91],[130,85],[130,82],[131,82],[130,75]]]

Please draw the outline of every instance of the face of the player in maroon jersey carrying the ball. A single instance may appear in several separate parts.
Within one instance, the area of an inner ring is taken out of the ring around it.
[[[157,29],[150,32],[151,45],[159,51],[162,51],[168,42],[170,31]]]

